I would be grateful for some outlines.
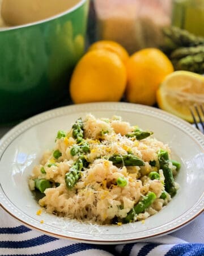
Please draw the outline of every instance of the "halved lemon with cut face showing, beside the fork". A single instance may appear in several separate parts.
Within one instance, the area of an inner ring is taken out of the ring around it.
[[[165,77],[156,99],[159,108],[193,122],[189,107],[204,105],[204,77],[193,72],[175,71]]]

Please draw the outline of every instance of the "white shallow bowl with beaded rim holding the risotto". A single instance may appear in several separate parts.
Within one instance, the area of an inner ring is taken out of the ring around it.
[[[79,117],[121,117],[142,129],[154,131],[167,143],[173,158],[181,162],[176,181],[180,189],[159,213],[145,220],[116,225],[91,225],[67,220],[40,209],[28,188],[32,168],[42,153],[54,146],[58,130],[69,130]],[[87,243],[124,243],[162,236],[188,224],[203,210],[204,136],[189,123],[162,110],[128,103],[71,105],[29,118],[10,130],[0,144],[0,202],[2,207],[24,225],[50,236]],[[40,221],[44,223],[41,224]]]

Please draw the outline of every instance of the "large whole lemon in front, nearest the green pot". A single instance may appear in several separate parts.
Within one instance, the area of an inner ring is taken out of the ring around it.
[[[120,101],[126,86],[126,68],[116,53],[105,49],[87,52],[76,65],[70,95],[78,103]]]

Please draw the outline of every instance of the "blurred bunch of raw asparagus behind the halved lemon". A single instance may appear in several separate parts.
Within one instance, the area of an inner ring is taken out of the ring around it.
[[[162,50],[169,56],[175,70],[204,73],[204,38],[178,27],[163,28]]]

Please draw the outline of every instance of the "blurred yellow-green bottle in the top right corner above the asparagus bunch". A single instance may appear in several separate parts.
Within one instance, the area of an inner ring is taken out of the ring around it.
[[[204,36],[204,0],[174,0],[172,25]]]

